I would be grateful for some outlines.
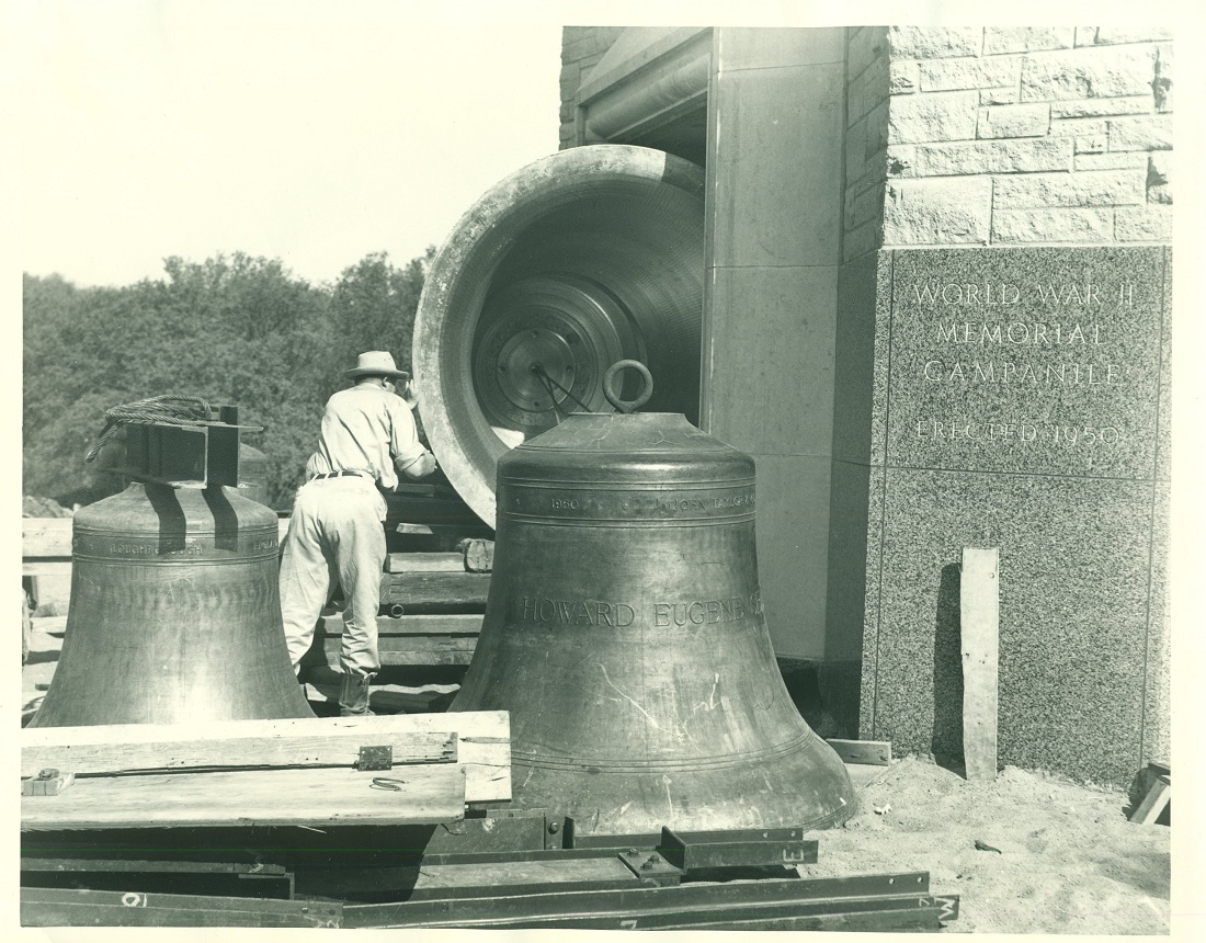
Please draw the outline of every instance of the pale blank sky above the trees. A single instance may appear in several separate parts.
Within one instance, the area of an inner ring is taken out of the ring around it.
[[[322,282],[438,245],[557,150],[561,27],[414,8],[25,5],[22,268],[125,285],[242,251]]]

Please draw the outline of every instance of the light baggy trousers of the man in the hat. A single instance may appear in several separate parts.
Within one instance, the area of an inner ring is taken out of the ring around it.
[[[386,503],[368,478],[327,478],[298,491],[281,549],[281,619],[293,670],[314,640],[322,608],[343,587],[339,667],[370,676],[381,668],[376,614],[385,567]]]

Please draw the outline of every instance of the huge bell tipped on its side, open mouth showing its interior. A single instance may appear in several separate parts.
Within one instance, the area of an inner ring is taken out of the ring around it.
[[[697,417],[703,193],[702,168],[673,154],[572,147],[491,187],[440,247],[415,381],[440,467],[487,525],[498,457],[566,412],[609,411],[616,361],[657,376],[650,410]]]

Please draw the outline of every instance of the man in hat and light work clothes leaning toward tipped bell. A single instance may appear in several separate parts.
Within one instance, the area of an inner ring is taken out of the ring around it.
[[[381,668],[376,614],[385,567],[382,491],[398,475],[425,478],[435,457],[418,441],[415,403],[394,393],[409,375],[386,351],[369,351],[346,371],[355,386],[327,400],[318,450],[306,462],[281,551],[281,616],[293,670],[310,649],[315,623],[339,584],[344,590],[344,643],[339,713],[368,714],[369,684]]]

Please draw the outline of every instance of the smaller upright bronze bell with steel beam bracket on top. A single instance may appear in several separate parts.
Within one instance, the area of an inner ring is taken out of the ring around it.
[[[131,484],[81,508],[63,651],[31,727],[310,718],[277,522],[238,488]]]

